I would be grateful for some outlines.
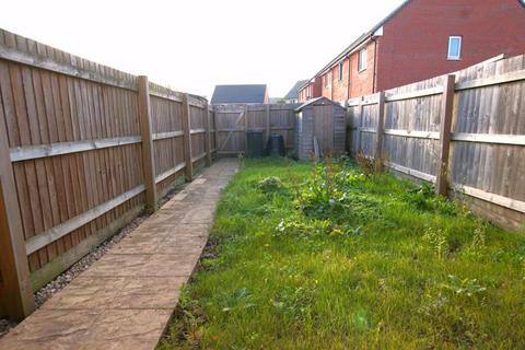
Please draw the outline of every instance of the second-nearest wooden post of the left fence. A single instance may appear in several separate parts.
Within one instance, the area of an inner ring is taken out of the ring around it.
[[[150,84],[148,77],[139,77],[139,124],[142,138],[142,170],[145,186],[145,210],[156,210],[155,160],[151,127]]]

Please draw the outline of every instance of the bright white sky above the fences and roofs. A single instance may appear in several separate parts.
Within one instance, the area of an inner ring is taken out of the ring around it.
[[[178,91],[284,95],[401,0],[0,0],[0,27]]]

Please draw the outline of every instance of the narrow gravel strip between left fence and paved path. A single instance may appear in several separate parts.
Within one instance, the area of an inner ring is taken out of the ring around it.
[[[175,186],[172,190],[170,190],[164,197],[159,200],[159,208],[164,206],[170,199],[172,199],[178,191],[180,191],[186,184],[182,184]],[[93,265],[96,260],[102,258],[107,252],[109,252],[113,247],[115,247],[124,237],[129,235],[131,232],[135,231],[142,222],[145,221],[150,215],[149,214],[140,214],[139,217],[135,218],[131,222],[129,222],[126,226],[120,229],[118,233],[113,235],[112,237],[107,238],[103,243],[101,243],[96,248],[94,248],[91,253],[85,255],[79,261],[74,262],[69,267],[66,271],[57,276],[52,281],[40,288],[35,293],[35,305],[36,308],[39,308],[47,300],[49,300],[55,293],[62,290],[68,285],[74,278],[77,278],[80,273],[88,270],[91,265]],[[12,328],[18,325],[16,322],[10,320],[8,318],[0,317],[0,339],[5,336]]]

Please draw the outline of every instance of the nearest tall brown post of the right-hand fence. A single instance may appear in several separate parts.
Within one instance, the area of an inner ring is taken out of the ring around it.
[[[440,125],[440,149],[438,176],[435,179],[435,194],[445,196],[448,194],[448,155],[451,153],[451,128],[452,113],[454,108],[456,77],[454,74],[446,75],[441,102],[441,125]]]

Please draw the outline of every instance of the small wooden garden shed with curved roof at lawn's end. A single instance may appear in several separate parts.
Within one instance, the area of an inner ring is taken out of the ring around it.
[[[317,97],[295,108],[295,150],[301,160],[311,159],[316,148],[319,155],[345,152],[345,108],[338,103]]]

